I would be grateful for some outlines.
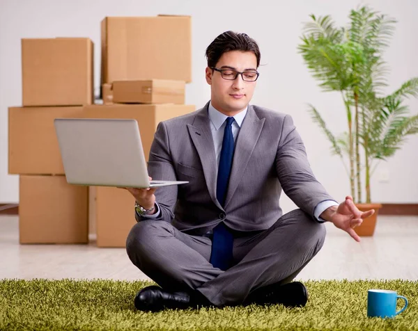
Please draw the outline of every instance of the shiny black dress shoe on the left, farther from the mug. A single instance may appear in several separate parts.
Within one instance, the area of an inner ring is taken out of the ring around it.
[[[169,292],[159,286],[147,286],[135,296],[135,307],[143,312],[160,312],[163,309],[187,309],[191,307],[189,294]]]

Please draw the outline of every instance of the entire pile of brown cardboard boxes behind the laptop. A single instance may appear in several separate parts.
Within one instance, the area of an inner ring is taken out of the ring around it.
[[[124,247],[135,223],[127,191],[66,182],[54,118],[134,118],[148,160],[157,124],[194,111],[184,104],[192,76],[190,17],[106,17],[101,48],[103,104],[94,105],[91,40],[22,40],[23,102],[9,108],[21,243],[87,243],[90,227],[98,246]]]

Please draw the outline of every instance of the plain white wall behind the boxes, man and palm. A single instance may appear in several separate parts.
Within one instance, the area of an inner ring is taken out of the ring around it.
[[[374,9],[398,19],[387,60],[392,71],[388,91],[418,76],[418,2],[416,0],[368,2]],[[21,38],[88,37],[95,43],[95,88],[100,77],[100,21],[105,16],[191,15],[193,24],[193,83],[187,86],[187,104],[200,107],[210,95],[204,80],[204,51],[219,33],[245,32],[261,48],[261,76],[253,104],[293,115],[304,139],[316,177],[337,200],[349,194],[348,178],[341,161],[330,156],[330,145],[311,122],[307,103],[323,113],[334,132],[346,129],[339,94],[320,92],[311,78],[297,44],[302,22],[308,15],[330,14],[338,24],[348,21],[349,10],[359,1],[142,1],[142,0],[0,0],[0,202],[18,202],[18,176],[8,175],[8,106],[22,102]],[[417,113],[418,102],[410,102]],[[373,179],[376,202],[418,202],[418,136],[410,138],[403,150],[382,163]],[[380,182],[379,172],[389,173]],[[285,210],[293,204],[284,199]]]

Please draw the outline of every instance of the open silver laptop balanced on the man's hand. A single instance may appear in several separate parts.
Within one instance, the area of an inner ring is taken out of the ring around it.
[[[148,188],[186,184],[148,178],[137,120],[56,118],[69,184]]]

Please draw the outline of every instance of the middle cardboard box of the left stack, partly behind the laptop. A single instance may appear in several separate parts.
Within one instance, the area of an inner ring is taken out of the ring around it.
[[[83,107],[8,109],[8,173],[63,175],[54,118],[79,118]]]

